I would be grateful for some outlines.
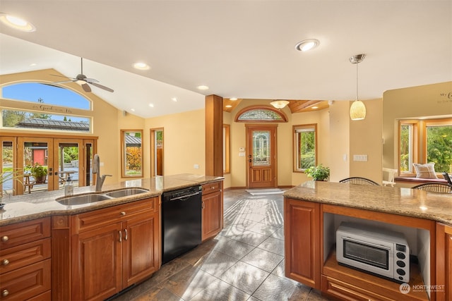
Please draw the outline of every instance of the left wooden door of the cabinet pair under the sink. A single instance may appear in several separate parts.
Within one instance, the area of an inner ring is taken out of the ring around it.
[[[121,290],[122,223],[72,236],[72,300],[104,300]]]

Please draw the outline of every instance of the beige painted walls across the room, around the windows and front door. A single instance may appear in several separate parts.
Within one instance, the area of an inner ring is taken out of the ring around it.
[[[53,82],[53,69],[1,75],[0,85],[27,80]],[[93,133],[98,137],[97,153],[104,164],[101,173],[114,175],[107,183],[121,180],[121,145],[119,131],[143,129],[143,176],[150,176],[150,129],[164,129],[165,175],[176,173],[205,173],[205,110],[188,111],[143,119],[123,114],[95,93],[85,93],[79,85],[67,85],[93,102]],[[285,107],[287,123],[278,123],[278,185],[299,185],[310,180],[304,173],[293,172],[292,125],[317,123],[318,161],[331,168],[332,181],[348,176],[364,176],[381,183],[381,167],[395,166],[397,118],[452,115],[452,82],[387,91],[383,99],[364,101],[367,116],[364,121],[350,121],[351,102],[332,102],[328,109],[309,113],[290,113]],[[246,99],[232,113],[223,113],[224,123],[231,125],[231,173],[225,175],[225,188],[246,187],[246,158],[239,156],[239,147],[246,147],[244,123],[234,117],[246,106],[269,104],[266,99]],[[5,102],[0,100],[0,105]],[[384,118],[383,118],[384,117]],[[2,130],[2,132],[15,132]],[[20,130],[21,133],[26,132]],[[64,133],[64,135],[79,135]],[[383,140],[382,140],[383,137]],[[382,142],[384,141],[383,145]],[[367,154],[368,161],[353,161],[354,154]],[[383,164],[381,158],[383,156]],[[194,168],[198,164],[199,168]]]

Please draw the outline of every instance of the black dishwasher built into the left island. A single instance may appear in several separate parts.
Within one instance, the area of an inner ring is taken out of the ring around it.
[[[162,264],[201,243],[201,186],[162,196]]]

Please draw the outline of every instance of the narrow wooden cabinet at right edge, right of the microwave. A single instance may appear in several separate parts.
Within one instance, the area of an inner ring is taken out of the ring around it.
[[[452,300],[452,226],[436,223],[436,300]]]

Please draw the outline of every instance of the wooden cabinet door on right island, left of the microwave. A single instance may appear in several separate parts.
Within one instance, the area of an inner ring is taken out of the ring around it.
[[[285,276],[320,289],[320,204],[284,200]]]

